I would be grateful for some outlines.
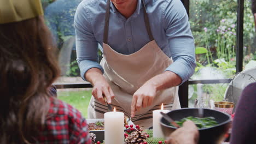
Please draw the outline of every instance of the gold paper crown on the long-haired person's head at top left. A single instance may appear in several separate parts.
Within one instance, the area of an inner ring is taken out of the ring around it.
[[[0,0],[0,24],[43,15],[40,0]]]

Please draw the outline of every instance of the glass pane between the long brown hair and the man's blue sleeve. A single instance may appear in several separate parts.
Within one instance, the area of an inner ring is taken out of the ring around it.
[[[80,70],[76,61],[74,14],[82,0],[41,0],[46,25],[53,34],[59,55],[61,78],[56,83],[80,83]]]

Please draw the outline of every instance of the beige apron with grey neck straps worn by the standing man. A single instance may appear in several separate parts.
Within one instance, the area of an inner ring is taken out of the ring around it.
[[[104,69],[104,77],[115,95],[115,99],[112,100],[112,107],[116,107],[117,111],[124,112],[126,116],[130,117],[133,93],[152,77],[162,74],[173,61],[162,52],[153,38],[144,2],[144,20],[150,38],[149,43],[131,55],[123,55],[114,51],[107,44],[109,4],[108,0],[101,65]],[[166,110],[180,109],[178,87],[167,88],[158,92],[153,104],[136,112],[131,121],[144,128],[152,127],[152,112],[159,110],[162,103]],[[107,111],[107,105],[102,105],[94,97],[91,98],[88,118],[103,118],[103,114]]]

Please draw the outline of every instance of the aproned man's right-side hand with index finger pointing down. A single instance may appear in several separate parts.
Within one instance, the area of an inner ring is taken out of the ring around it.
[[[135,116],[135,111],[139,111],[141,107],[152,105],[156,95],[156,87],[152,83],[145,83],[140,87],[132,97],[131,117]]]

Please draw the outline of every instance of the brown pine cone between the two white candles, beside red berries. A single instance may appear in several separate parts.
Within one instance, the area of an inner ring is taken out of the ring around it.
[[[125,144],[139,144],[147,139],[147,133],[135,129],[135,131],[132,131],[132,133],[126,137]]]

